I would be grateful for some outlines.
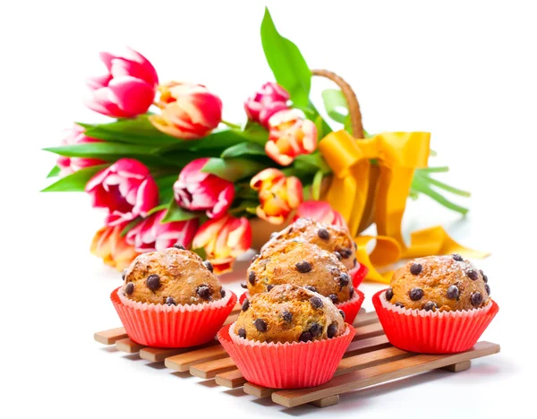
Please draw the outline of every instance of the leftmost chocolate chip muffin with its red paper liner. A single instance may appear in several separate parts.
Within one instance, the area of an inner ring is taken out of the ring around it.
[[[139,255],[110,298],[129,338],[154,347],[209,342],[236,303],[210,262],[179,244]]]

